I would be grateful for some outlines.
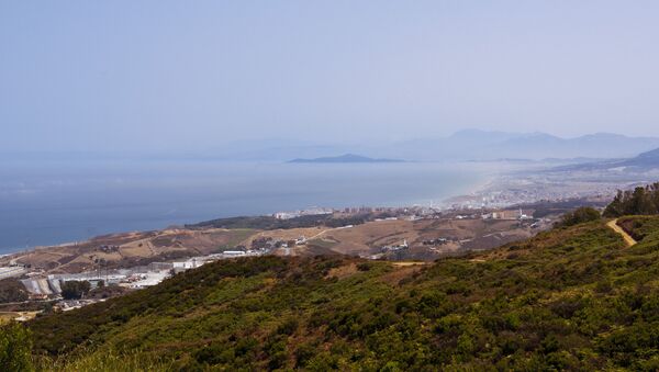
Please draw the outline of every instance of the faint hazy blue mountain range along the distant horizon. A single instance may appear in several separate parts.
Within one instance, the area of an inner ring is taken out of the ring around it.
[[[208,159],[275,160],[315,159],[338,154],[364,154],[372,158],[413,161],[459,161],[496,159],[619,159],[659,148],[659,137],[629,137],[595,133],[562,138],[547,133],[509,133],[465,129],[447,137],[424,137],[361,145],[265,139],[230,144],[206,150]]]

